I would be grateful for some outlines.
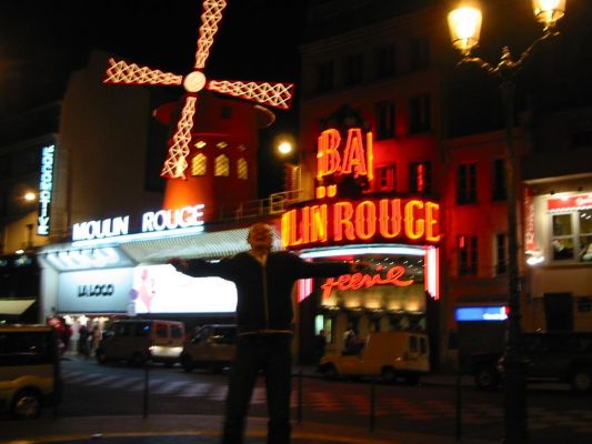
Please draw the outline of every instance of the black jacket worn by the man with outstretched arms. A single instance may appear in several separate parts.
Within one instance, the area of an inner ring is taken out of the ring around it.
[[[190,276],[220,276],[237,285],[239,333],[288,332],[292,323],[292,286],[299,279],[331,278],[350,273],[344,262],[307,262],[293,253],[268,254],[263,265],[244,252],[220,262],[195,259],[183,271]],[[201,297],[215,297],[203,294]]]

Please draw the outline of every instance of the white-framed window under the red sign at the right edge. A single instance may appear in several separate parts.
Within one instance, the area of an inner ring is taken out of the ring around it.
[[[552,260],[592,263],[592,210],[552,214]]]

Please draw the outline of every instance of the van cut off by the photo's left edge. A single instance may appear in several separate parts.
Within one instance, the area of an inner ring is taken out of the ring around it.
[[[32,418],[60,402],[58,343],[50,325],[0,325],[0,411]]]

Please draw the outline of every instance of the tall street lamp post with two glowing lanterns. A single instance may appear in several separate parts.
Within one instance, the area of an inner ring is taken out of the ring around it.
[[[476,64],[500,82],[504,107],[505,123],[505,180],[508,192],[508,336],[504,351],[504,438],[506,444],[526,443],[528,412],[524,366],[521,361],[522,331],[520,326],[520,275],[519,275],[519,241],[516,216],[516,184],[514,159],[514,77],[528,60],[532,49],[544,40],[559,33],[555,23],[565,12],[565,0],[532,0],[534,17],[544,24],[543,34],[536,39],[514,61],[510,49],[504,47],[499,63],[493,67],[486,61],[471,57],[471,50],[479,43],[481,32],[481,11],[464,6],[451,11],[448,16],[452,44],[462,59],[459,64]]]

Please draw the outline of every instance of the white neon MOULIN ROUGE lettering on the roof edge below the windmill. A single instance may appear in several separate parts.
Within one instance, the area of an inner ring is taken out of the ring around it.
[[[141,218],[141,233],[177,232],[185,229],[203,230],[203,204],[174,210],[148,211]],[[130,232],[130,216],[76,223],[72,241],[90,241],[124,236]]]

